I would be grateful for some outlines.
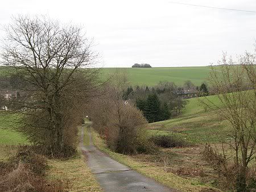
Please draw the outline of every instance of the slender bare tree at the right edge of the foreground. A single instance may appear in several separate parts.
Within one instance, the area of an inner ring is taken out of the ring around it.
[[[246,172],[255,158],[255,57],[249,53],[233,61],[224,56],[218,66],[212,66],[209,82],[220,101],[211,102],[206,97],[205,106],[217,110],[231,125],[232,141],[237,166],[237,191],[246,190]]]

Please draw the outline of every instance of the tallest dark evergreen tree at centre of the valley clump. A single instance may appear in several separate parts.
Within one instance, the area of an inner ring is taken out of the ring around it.
[[[150,94],[147,97],[144,115],[149,123],[158,122],[161,119],[160,101],[158,95]]]

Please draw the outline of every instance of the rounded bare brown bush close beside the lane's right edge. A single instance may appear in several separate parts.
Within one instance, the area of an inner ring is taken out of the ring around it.
[[[147,151],[146,130],[147,123],[142,112],[130,105],[123,105],[117,111],[113,111],[113,124],[109,127],[110,134],[107,144],[113,151],[122,154],[134,154]],[[115,114],[119,112],[120,115]]]

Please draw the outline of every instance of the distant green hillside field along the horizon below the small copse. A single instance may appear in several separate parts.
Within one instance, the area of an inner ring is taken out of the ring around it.
[[[189,66],[170,68],[102,68],[102,76],[108,77],[117,70],[125,72],[131,85],[154,86],[160,81],[175,82],[176,85],[183,85],[190,80],[196,86],[207,81],[209,66]]]

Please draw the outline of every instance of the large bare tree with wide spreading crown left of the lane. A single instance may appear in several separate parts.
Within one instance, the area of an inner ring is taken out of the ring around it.
[[[17,88],[23,98],[21,131],[34,143],[64,152],[70,147],[65,146],[65,134],[76,126],[82,104],[97,86],[97,73],[89,68],[97,58],[92,42],[81,27],[44,16],[18,16],[6,34],[5,65],[26,82]]]

